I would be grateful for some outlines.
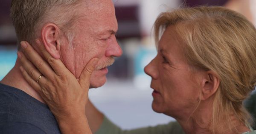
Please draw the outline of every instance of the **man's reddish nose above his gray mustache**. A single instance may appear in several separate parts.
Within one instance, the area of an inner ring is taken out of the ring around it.
[[[122,55],[122,48],[117,43],[116,39],[111,42],[109,47],[106,50],[106,57],[114,56],[114,57],[120,57]]]

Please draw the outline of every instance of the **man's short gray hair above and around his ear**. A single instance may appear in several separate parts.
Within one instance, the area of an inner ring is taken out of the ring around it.
[[[77,17],[74,12],[80,0],[12,0],[11,18],[18,44],[26,40],[34,42],[45,23],[54,23],[72,40],[70,30]],[[20,49],[20,45],[18,45]]]

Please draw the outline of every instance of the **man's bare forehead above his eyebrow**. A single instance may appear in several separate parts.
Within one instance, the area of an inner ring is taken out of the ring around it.
[[[116,34],[118,27],[112,1],[86,1],[90,2],[81,6],[81,18],[76,21],[80,28],[79,31],[90,34],[93,39],[99,39],[100,36],[107,34]]]

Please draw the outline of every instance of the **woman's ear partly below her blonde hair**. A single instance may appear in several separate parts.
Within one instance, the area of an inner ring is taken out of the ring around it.
[[[213,71],[207,71],[202,78],[202,97],[201,100],[207,100],[218,89],[220,84],[219,77]]]

